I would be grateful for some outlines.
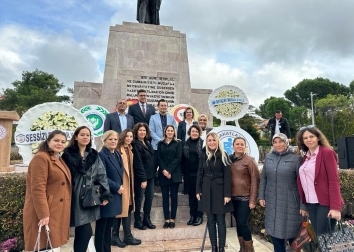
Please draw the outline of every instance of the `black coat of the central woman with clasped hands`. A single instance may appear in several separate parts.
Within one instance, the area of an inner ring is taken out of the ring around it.
[[[160,141],[157,145],[157,157],[159,160],[158,177],[160,185],[170,185],[172,183],[182,182],[182,142],[172,140],[170,144]],[[168,179],[162,174],[167,170],[171,174]]]

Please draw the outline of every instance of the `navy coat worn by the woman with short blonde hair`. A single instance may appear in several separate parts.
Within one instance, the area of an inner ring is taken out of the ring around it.
[[[118,193],[121,185],[123,185],[123,162],[120,154],[115,151],[118,162],[113,154],[103,147],[98,153],[104,167],[106,168],[109,190],[113,194],[113,201],[106,206],[101,206],[101,218],[111,218],[122,213],[122,195]]]

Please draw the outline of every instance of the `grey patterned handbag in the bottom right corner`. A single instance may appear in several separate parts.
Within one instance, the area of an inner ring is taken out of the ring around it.
[[[328,218],[329,233],[318,236],[318,245],[322,252],[354,251],[354,232],[352,228],[343,228],[338,221],[339,230],[332,231],[331,218]]]

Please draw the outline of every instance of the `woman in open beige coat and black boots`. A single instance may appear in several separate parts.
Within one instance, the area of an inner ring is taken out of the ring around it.
[[[130,129],[123,130],[118,136],[117,151],[122,156],[124,165],[124,191],[122,193],[122,214],[116,216],[117,220],[113,224],[112,245],[117,245],[120,248],[124,248],[126,245],[141,244],[141,240],[133,237],[130,228],[131,212],[135,210],[133,152],[131,146],[133,139],[133,131]],[[123,242],[119,239],[120,223],[122,223],[124,231]]]

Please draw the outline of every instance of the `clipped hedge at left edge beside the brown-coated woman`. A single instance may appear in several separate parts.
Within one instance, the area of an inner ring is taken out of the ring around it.
[[[25,194],[25,173],[0,175],[0,243],[18,237],[17,251],[24,249],[22,216]]]

